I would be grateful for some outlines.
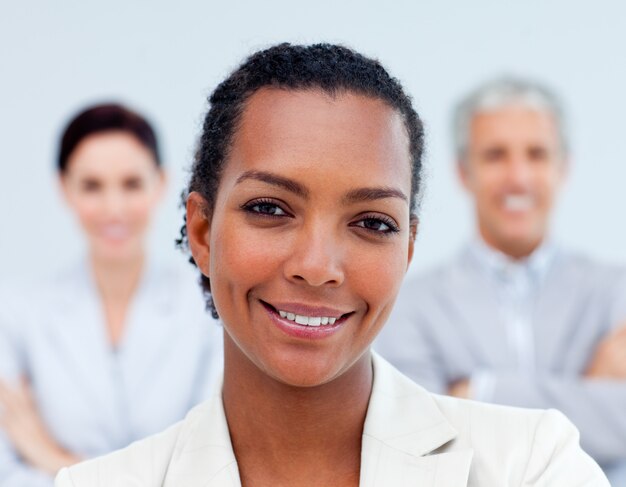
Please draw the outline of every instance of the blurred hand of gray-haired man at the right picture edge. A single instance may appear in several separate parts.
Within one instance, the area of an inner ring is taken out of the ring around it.
[[[626,380],[626,325],[607,335],[596,348],[585,376]]]

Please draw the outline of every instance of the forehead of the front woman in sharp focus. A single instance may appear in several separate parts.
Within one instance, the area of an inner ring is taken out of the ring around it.
[[[335,173],[369,171],[378,178],[390,173],[410,185],[401,114],[382,100],[351,92],[259,90],[246,104],[229,161],[240,170],[323,166]]]

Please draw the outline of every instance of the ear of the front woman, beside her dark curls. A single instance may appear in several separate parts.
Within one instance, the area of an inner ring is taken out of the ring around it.
[[[200,193],[192,192],[187,197],[187,240],[189,249],[196,265],[207,277],[209,276],[209,260],[211,256],[208,205]]]

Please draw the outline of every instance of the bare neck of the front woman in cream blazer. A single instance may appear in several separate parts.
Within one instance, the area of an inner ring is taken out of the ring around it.
[[[243,358],[225,335],[224,409],[242,485],[358,485],[370,353],[330,383],[294,387]]]

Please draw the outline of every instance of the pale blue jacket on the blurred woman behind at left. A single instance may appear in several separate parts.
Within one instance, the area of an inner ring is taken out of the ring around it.
[[[0,378],[27,377],[50,433],[85,458],[182,419],[220,376],[221,348],[191,268],[148,264],[117,348],[86,263],[0,294]],[[52,485],[1,430],[0,485]]]

